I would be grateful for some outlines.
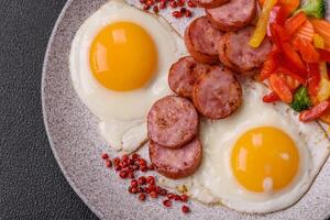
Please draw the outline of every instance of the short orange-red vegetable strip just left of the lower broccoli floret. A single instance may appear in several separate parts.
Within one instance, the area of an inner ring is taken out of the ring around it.
[[[290,88],[278,75],[272,74],[270,76],[270,86],[278,95],[283,102],[290,103],[293,101],[293,92],[290,91]]]

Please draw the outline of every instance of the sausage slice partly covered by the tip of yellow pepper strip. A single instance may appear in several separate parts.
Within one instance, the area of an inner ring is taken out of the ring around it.
[[[242,74],[258,69],[272,51],[272,43],[267,37],[257,48],[249,45],[254,29],[246,26],[238,32],[228,33],[224,53],[231,64]]]

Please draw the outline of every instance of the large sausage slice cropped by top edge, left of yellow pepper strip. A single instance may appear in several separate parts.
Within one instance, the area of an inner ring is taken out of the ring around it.
[[[206,10],[212,24],[222,31],[237,31],[246,26],[256,14],[255,0],[231,0],[213,9]]]

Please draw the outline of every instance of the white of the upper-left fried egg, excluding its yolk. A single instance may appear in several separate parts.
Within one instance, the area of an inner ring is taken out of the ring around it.
[[[118,21],[144,28],[154,40],[158,55],[154,78],[143,88],[125,92],[105,88],[89,66],[94,38],[100,30]],[[170,65],[185,54],[184,42],[165,20],[122,0],[103,4],[79,28],[69,56],[72,81],[81,101],[101,121],[100,133],[113,148],[132,152],[146,141],[146,114],[156,100],[172,94],[167,74]]]

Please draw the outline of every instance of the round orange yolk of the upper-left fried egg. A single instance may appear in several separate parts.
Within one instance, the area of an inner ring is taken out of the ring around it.
[[[117,22],[94,38],[89,63],[95,78],[106,88],[134,90],[153,77],[157,66],[156,46],[140,25]]]

